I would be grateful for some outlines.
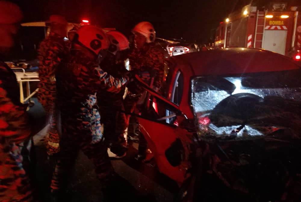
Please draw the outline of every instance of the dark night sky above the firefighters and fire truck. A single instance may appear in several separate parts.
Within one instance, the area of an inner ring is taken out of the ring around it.
[[[210,30],[250,0],[12,0],[24,12],[24,22],[45,21],[62,14],[68,21],[86,17],[92,24],[114,27],[128,35],[140,21],[154,24],[157,36],[208,42]]]

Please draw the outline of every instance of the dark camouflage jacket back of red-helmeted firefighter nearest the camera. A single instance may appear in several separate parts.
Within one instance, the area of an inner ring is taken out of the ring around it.
[[[73,53],[57,72],[58,104],[62,112],[75,113],[96,104],[93,62],[81,52]]]

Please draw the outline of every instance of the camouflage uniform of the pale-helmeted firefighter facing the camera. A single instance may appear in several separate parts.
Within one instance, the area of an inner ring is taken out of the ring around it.
[[[164,55],[156,47],[147,45],[144,49],[134,49],[129,56],[131,70],[140,70],[141,79],[153,89],[160,89],[164,76]],[[132,113],[137,105],[143,104],[146,92],[134,82],[128,85],[129,93],[124,100],[124,108],[127,113]],[[140,100],[139,100],[140,99]],[[142,102],[141,102],[142,99]],[[129,126],[130,115],[126,117],[125,127]],[[137,121],[136,121],[137,122]],[[145,153],[147,142],[143,135],[139,136],[139,154]]]

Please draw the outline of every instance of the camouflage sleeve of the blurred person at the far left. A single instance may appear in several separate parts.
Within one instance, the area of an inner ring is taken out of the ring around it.
[[[21,143],[30,135],[27,116],[23,106],[14,104],[3,87],[0,80],[0,136],[8,142]]]

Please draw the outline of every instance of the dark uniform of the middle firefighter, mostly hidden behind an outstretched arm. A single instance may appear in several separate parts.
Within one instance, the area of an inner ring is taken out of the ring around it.
[[[114,59],[111,61],[106,58],[101,65],[104,71],[116,78],[122,77],[122,75],[127,71],[123,64],[116,64]],[[118,147],[119,143],[125,141],[123,138],[123,132],[126,129],[126,115],[125,113],[120,112],[121,110],[124,111],[124,93],[125,86],[121,87],[115,93],[105,90],[100,90],[97,93],[97,104],[101,114],[101,123],[104,124],[104,137],[111,147],[114,147],[116,144]]]

